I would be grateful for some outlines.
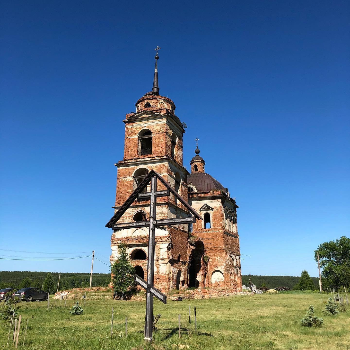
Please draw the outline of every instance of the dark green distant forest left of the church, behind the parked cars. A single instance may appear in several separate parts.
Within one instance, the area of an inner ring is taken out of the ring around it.
[[[0,271],[0,289],[14,287],[36,287],[42,288],[48,272],[33,272],[33,271]],[[51,272],[53,280],[53,290],[57,290],[58,277],[59,290],[71,288],[84,288],[90,286],[90,273],[59,273]],[[28,280],[30,279],[30,282]],[[26,280],[26,281],[24,281]],[[107,287],[111,282],[111,275],[104,273],[92,274],[93,287]],[[24,286],[26,284],[26,286]],[[30,284],[28,286],[27,284]],[[51,294],[51,293],[50,293]]]

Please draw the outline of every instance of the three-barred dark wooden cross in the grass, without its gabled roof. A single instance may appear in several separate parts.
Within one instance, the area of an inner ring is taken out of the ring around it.
[[[150,199],[149,203],[149,220],[141,222],[127,222],[121,224],[113,224],[112,227],[114,230],[124,229],[124,228],[140,228],[148,227],[148,259],[147,259],[147,281],[143,280],[137,274],[134,275],[134,280],[141,287],[146,289],[146,317],[145,317],[145,340],[152,341],[153,333],[153,296],[157,297],[163,303],[167,303],[167,297],[165,294],[161,293],[158,289],[154,288],[154,250],[155,250],[155,229],[157,226],[164,225],[179,225],[179,224],[192,224],[196,222],[196,217],[188,218],[174,218],[174,219],[156,219],[156,202],[157,197],[168,196],[170,191],[174,190],[170,188],[169,184],[165,184],[167,190],[157,191],[157,175],[154,174],[150,178],[151,180],[151,192],[138,193],[137,198],[140,200]],[[163,183],[163,181],[162,181]],[[164,184],[164,183],[163,183]],[[138,191],[141,191],[142,187]],[[135,190],[136,191],[136,190]],[[174,193],[174,192],[173,192]],[[174,193],[175,194],[175,193]],[[176,193],[178,196],[178,194]],[[133,198],[133,197],[131,197]],[[181,198],[181,197],[180,197]],[[188,204],[181,198],[181,202],[184,205]],[[191,212],[197,215],[198,218],[201,218],[193,208],[189,207]],[[123,208],[125,211],[126,209]]]

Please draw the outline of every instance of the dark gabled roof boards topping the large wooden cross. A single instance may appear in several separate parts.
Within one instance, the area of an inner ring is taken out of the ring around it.
[[[121,205],[117,212],[112,216],[106,224],[106,227],[112,228],[113,225],[121,218],[121,216],[126,212],[128,207],[137,199],[138,193],[140,193],[151,181],[151,178],[156,176],[156,178],[167,188],[167,190],[174,194],[174,196],[188,209],[188,211],[194,215],[197,219],[203,220],[203,218],[184,200],[179,193],[177,193],[170,184],[164,180],[157,172],[153,169],[147,174],[147,176],[140,182],[140,184],[135,188],[130,197]]]

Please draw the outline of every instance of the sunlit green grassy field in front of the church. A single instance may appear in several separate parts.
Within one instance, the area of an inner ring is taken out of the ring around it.
[[[327,295],[322,295],[323,300]],[[319,294],[239,295],[210,300],[191,300],[167,305],[158,300],[154,314],[161,314],[151,346],[145,344],[143,327],[145,301],[86,300],[85,312],[72,316],[59,308],[59,301],[47,310],[47,302],[21,302],[22,347],[25,323],[29,318],[25,349],[174,349],[172,344],[186,344],[189,349],[350,349],[350,310],[338,316],[324,316]],[[74,300],[68,300],[71,306]],[[322,328],[300,326],[308,306],[323,317]],[[191,324],[188,306],[191,306]],[[113,339],[111,310],[114,307]],[[197,330],[194,331],[193,309],[197,308]],[[181,314],[181,339],[178,337],[178,314]],[[128,337],[125,332],[128,317]],[[24,324],[24,326],[23,326]],[[0,321],[0,346],[6,347],[9,323]],[[12,343],[8,349],[12,349]]]

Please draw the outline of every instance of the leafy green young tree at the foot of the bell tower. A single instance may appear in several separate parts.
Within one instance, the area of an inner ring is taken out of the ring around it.
[[[112,284],[115,293],[121,293],[121,300],[124,300],[124,293],[135,286],[135,269],[128,260],[126,245],[120,243],[118,246],[118,259],[112,265]]]

